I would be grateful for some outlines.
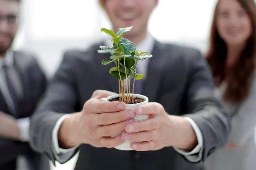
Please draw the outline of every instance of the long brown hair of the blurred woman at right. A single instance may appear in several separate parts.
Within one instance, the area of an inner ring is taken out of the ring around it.
[[[256,57],[256,4],[254,0],[237,0],[247,11],[252,24],[252,34],[247,40],[247,45],[241,52],[239,59],[230,68],[226,66],[227,46],[218,34],[216,28],[218,1],[210,31],[209,50],[206,54],[207,61],[212,68],[215,85],[219,86],[224,80],[227,88],[223,99],[233,104],[245,99],[250,90],[250,78],[255,68]]]

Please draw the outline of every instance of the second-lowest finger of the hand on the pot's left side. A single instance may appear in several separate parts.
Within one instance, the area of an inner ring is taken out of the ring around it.
[[[125,126],[133,122],[135,122],[135,119],[130,119],[128,121],[124,121],[120,123],[115,123],[113,125],[100,126],[97,128],[97,134],[99,134],[99,136],[105,136],[105,137],[113,136],[123,132],[125,130]]]

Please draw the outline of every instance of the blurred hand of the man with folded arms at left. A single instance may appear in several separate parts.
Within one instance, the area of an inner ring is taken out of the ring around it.
[[[6,113],[0,111],[0,138],[7,138],[13,140],[20,139],[20,128],[17,120]]]

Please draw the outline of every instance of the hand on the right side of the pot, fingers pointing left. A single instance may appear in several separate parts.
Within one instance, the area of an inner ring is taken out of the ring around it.
[[[192,150],[198,144],[189,122],[181,116],[169,115],[159,103],[141,105],[136,109],[136,114],[147,114],[148,119],[126,125],[126,132],[122,133],[124,140],[144,141],[132,143],[134,150],[159,150],[169,146]]]

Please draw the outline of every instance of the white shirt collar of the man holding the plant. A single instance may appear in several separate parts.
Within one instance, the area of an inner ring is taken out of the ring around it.
[[[112,48],[113,47],[113,42],[109,40],[104,41],[105,46]],[[151,34],[147,33],[146,37],[136,46],[137,50],[139,52],[145,51],[148,52],[149,54],[152,54],[153,48],[154,48],[155,40],[151,36]]]

